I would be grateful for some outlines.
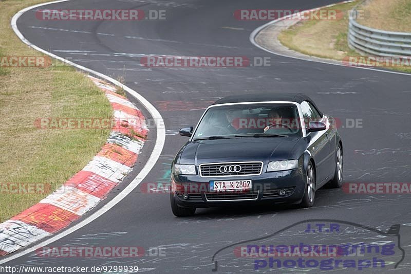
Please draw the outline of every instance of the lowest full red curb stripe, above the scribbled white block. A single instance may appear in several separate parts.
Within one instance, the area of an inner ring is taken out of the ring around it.
[[[79,217],[79,215],[59,207],[39,203],[12,217],[11,220],[22,221],[53,233],[65,228]]]

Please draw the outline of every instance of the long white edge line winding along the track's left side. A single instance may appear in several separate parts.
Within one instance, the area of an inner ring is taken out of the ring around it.
[[[161,151],[163,150],[164,147],[164,142],[165,142],[165,128],[163,126],[159,127],[158,124],[159,122],[161,122],[160,124],[164,124],[163,122],[163,118],[161,117],[160,113],[157,111],[157,109],[150,103],[148,102],[143,96],[141,96],[140,94],[138,94],[137,92],[135,92],[135,90],[129,88],[128,86],[123,85],[122,83],[120,83],[119,81],[106,76],[104,74],[101,74],[100,72],[97,72],[95,70],[91,70],[89,68],[86,68],[84,66],[78,65],[76,63],[73,63],[71,61],[65,60],[64,58],[61,58],[59,56],[56,56],[55,54],[48,52],[38,46],[33,45],[31,42],[29,42],[24,36],[23,34],[20,32],[20,30],[18,30],[17,28],[17,20],[20,16],[23,15],[23,13],[25,13],[28,10],[37,8],[37,7],[41,7],[41,6],[45,6],[45,5],[49,5],[49,4],[54,4],[54,3],[61,3],[61,2],[67,2],[70,0],[60,0],[60,1],[52,1],[52,2],[48,2],[48,3],[42,3],[42,4],[38,4],[38,5],[34,5],[31,7],[27,7],[25,9],[22,9],[21,11],[17,12],[13,18],[11,19],[11,27],[13,28],[14,32],[17,34],[18,38],[20,38],[20,40],[22,40],[25,44],[27,44],[28,46],[32,47],[35,50],[38,50],[40,52],[43,52],[45,54],[47,54],[48,56],[51,56],[52,58],[58,59],[64,63],[67,63],[69,65],[72,65],[78,69],[84,70],[89,72],[90,74],[93,74],[95,76],[98,76],[102,79],[105,79],[117,86],[120,86],[121,88],[123,88],[124,90],[126,90],[126,92],[128,92],[130,95],[132,95],[134,98],[136,98],[146,109],[147,111],[151,114],[152,118],[154,119],[154,121],[156,122],[156,128],[157,128],[157,137],[156,137],[156,143],[154,145],[153,148],[153,152],[150,155],[150,158],[148,158],[147,162],[145,163],[143,169],[139,172],[139,174],[133,179],[132,182],[130,182],[130,184],[124,188],[117,196],[115,196],[113,199],[111,199],[107,204],[105,204],[102,208],[100,208],[99,210],[97,210],[95,213],[92,213],[90,216],[88,216],[85,220],[81,221],[80,223],[64,230],[61,233],[58,233],[54,236],[52,236],[49,239],[46,239],[45,241],[42,241],[38,244],[36,244],[35,246],[32,246],[30,248],[24,249],[20,252],[16,251],[15,254],[10,255],[10,257],[7,257],[3,260],[0,260],[0,265],[4,264],[6,262],[9,262],[11,260],[14,260],[16,258],[22,257],[23,255],[33,252],[36,249],[43,247],[45,245],[48,245],[50,243],[53,243],[69,234],[71,234],[72,232],[88,225],[89,223],[91,223],[92,221],[96,220],[98,217],[100,217],[101,215],[103,215],[104,213],[106,213],[108,210],[110,210],[111,208],[113,208],[115,205],[117,205],[122,199],[124,199],[130,192],[132,192],[139,184],[140,182],[145,178],[145,176],[147,176],[147,174],[151,171],[151,169],[154,167],[155,163],[157,162],[158,158],[160,157]]]

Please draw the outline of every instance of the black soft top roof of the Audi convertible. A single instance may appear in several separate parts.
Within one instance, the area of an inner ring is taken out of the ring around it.
[[[323,113],[315,105],[314,101],[310,97],[303,93],[261,93],[261,94],[244,94],[244,95],[232,95],[221,98],[214,102],[212,105],[217,104],[231,104],[242,102],[269,102],[269,101],[290,101],[301,104],[303,101],[310,102],[322,116]]]

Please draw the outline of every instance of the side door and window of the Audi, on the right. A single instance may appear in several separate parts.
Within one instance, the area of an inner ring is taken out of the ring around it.
[[[304,116],[304,122],[306,128],[308,129],[310,122],[319,122],[322,121],[323,117],[320,117],[320,114],[316,109],[311,106],[308,102],[301,103],[301,109]],[[330,154],[331,154],[331,145],[329,140],[329,131],[330,129],[319,131],[319,132],[310,132],[307,134],[309,138],[309,151],[314,158],[316,166],[316,182],[317,184],[322,184],[322,182],[330,177]]]

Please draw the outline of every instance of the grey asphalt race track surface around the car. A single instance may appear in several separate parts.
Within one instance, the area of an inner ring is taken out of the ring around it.
[[[339,131],[344,141],[345,183],[411,182],[409,76],[275,56],[249,41],[250,33],[266,21],[238,21],[233,16],[237,9],[309,9],[334,2],[337,1],[74,0],[43,8],[165,10],[166,20],[41,21],[34,16],[35,10],[31,10],[17,25],[31,43],[43,49],[113,78],[123,76],[127,86],[158,109],[165,120],[165,145],[156,166],[143,182],[169,180],[172,158],[187,140],[178,135],[178,130],[195,125],[211,102],[227,95],[257,92],[304,92],[324,113],[343,121],[344,127]],[[140,65],[141,56],[146,54],[246,56],[250,60],[270,57],[271,65],[147,68]],[[362,127],[349,128],[346,121],[352,119],[362,119]],[[151,129],[152,140],[147,142],[139,161],[150,154],[154,132]],[[41,258],[30,253],[5,265],[137,265],[139,272],[212,272],[213,255],[225,246],[269,235],[300,221],[335,219],[382,231],[391,225],[401,225],[399,233],[405,258],[394,272],[405,273],[411,263],[410,206],[407,194],[347,194],[342,189],[320,189],[310,209],[286,206],[199,209],[193,217],[177,218],[171,212],[168,194],[142,193],[137,188],[96,221],[51,246],[163,248],[165,256]],[[369,239],[386,240],[381,235],[374,236]],[[308,242],[321,237],[308,233],[297,238]],[[350,242],[352,234],[335,234],[333,238]],[[291,241],[290,233],[279,239],[282,241],[276,238],[276,243],[287,244]],[[391,261],[400,261],[400,251],[396,252],[396,258]],[[252,264],[238,263],[240,260],[221,256],[218,272],[253,271]],[[363,269],[378,270],[384,271]]]

